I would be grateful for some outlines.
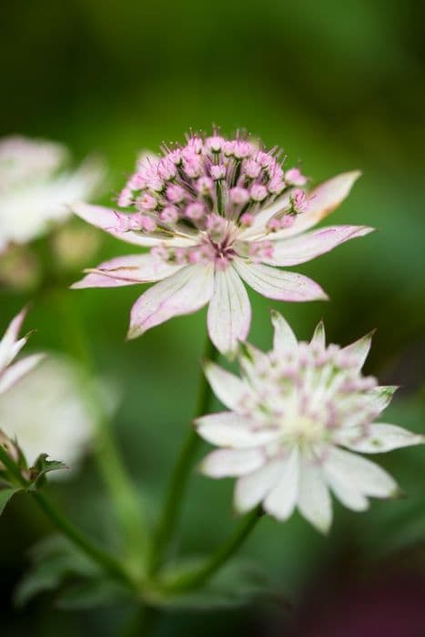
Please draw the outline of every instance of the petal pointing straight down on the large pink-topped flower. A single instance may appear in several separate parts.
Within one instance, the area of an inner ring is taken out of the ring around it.
[[[207,315],[208,334],[218,351],[235,354],[238,341],[248,336],[250,322],[251,306],[238,272],[231,267],[218,270]]]

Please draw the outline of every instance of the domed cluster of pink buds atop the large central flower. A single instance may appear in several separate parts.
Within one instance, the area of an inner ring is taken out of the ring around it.
[[[137,212],[131,221],[118,217],[117,227],[147,230],[155,223],[173,229],[184,222],[206,230],[211,214],[248,227],[260,208],[306,181],[298,168],[285,175],[275,150],[267,152],[247,138],[193,135],[185,146],[164,147],[162,157],[139,161],[118,197],[120,207]],[[305,206],[299,193],[291,198],[293,213]],[[288,221],[281,224],[287,227]]]

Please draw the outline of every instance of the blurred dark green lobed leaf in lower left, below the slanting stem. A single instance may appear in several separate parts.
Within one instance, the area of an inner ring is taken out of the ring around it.
[[[31,561],[32,568],[15,589],[17,606],[24,606],[40,592],[56,590],[70,578],[93,578],[99,574],[91,561],[60,536],[52,536],[35,545]]]

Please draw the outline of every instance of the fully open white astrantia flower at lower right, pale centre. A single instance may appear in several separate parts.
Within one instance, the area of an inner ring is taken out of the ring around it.
[[[202,470],[213,478],[238,478],[240,512],[261,503],[283,521],[298,508],[327,531],[330,491],[353,511],[367,509],[369,496],[388,498],[397,491],[386,471],[352,451],[390,451],[425,437],[374,422],[396,388],[362,375],[370,336],[341,349],[326,346],[322,323],[310,343],[298,342],[278,313],[273,323],[268,354],[241,349],[241,379],[207,363],[207,379],[231,411],[196,421],[200,436],[223,448],[207,456]]]

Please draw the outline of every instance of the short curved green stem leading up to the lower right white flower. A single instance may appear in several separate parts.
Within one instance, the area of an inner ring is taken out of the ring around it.
[[[196,589],[206,583],[233,555],[238,551],[250,532],[256,526],[262,515],[257,507],[244,518],[233,531],[227,541],[224,541],[207,561],[194,571],[182,573],[177,580],[167,586],[167,592],[181,592]]]

